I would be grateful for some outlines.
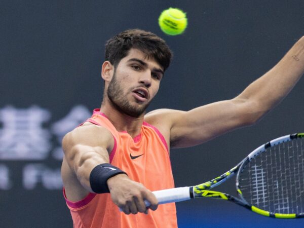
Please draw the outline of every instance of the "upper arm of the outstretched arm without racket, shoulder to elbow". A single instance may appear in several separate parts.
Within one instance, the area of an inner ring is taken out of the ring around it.
[[[251,102],[251,103],[250,103]],[[161,109],[150,112],[159,116],[170,131],[170,147],[201,144],[225,132],[251,125],[259,113],[256,104],[239,97],[194,108],[189,111]]]

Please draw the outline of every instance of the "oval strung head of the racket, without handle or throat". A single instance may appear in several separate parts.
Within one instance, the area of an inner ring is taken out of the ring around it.
[[[251,210],[270,217],[304,217],[304,133],[285,135],[250,153],[236,178]]]

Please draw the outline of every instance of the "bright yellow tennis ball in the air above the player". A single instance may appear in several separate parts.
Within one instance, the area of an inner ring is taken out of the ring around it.
[[[164,10],[159,17],[159,25],[168,35],[181,34],[187,27],[186,13],[177,8]]]

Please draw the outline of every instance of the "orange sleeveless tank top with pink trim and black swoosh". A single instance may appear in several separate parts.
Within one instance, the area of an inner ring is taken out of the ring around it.
[[[115,145],[109,156],[112,165],[150,191],[174,187],[168,146],[157,128],[143,122],[140,134],[132,138],[127,132],[118,132],[99,109],[95,109],[87,121],[107,128],[113,135]],[[64,197],[77,228],[177,227],[175,203],[159,205],[156,211],[149,210],[148,215],[126,215],[119,211],[108,193],[90,193],[78,202],[67,200],[65,193]]]

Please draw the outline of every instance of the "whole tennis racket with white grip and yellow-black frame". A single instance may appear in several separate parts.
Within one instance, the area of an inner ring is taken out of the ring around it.
[[[209,190],[234,174],[239,198]],[[159,204],[213,198],[264,216],[304,217],[304,133],[285,135],[257,147],[237,166],[205,183],[153,193]]]

